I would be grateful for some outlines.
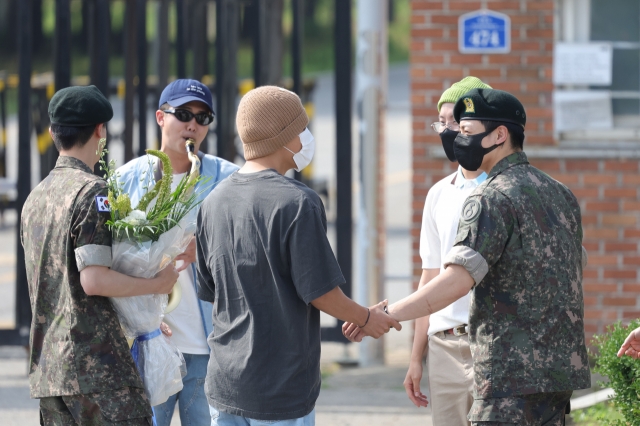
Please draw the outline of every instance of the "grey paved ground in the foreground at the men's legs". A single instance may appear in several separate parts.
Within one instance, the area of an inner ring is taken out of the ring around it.
[[[404,365],[396,359],[395,365],[337,370],[333,361],[342,356],[341,346],[323,344],[328,377],[316,405],[318,426],[431,426],[429,409],[414,407],[405,396]],[[350,350],[355,353],[356,348]],[[36,424],[38,400],[29,398],[26,352],[0,347],[0,425]],[[177,415],[171,425],[180,425]]]

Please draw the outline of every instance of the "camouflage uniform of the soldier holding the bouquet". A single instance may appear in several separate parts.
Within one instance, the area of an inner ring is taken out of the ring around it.
[[[98,211],[104,195],[103,179],[61,156],[29,195],[20,229],[33,312],[31,397],[41,398],[43,413],[66,405],[71,414],[98,416],[91,424],[152,415],[109,299],[88,296],[80,284],[83,268],[111,266],[109,214]],[[65,399],[76,401],[75,411]]]

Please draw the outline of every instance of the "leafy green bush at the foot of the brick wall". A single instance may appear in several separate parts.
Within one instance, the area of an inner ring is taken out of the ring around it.
[[[640,360],[617,353],[629,333],[640,327],[640,320],[634,320],[628,327],[617,322],[607,327],[607,332],[596,335],[593,344],[598,349],[594,371],[609,379],[600,385],[613,388],[614,406],[622,414],[624,420],[606,419],[607,425],[640,426]]]

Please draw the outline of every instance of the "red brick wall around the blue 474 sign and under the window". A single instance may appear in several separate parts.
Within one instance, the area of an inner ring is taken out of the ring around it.
[[[480,8],[511,17],[512,51],[507,55],[462,55],[457,23]],[[568,185],[580,201],[590,265],[584,291],[588,336],[617,319],[640,316],[640,202],[638,161],[540,158],[536,148],[554,148],[551,70],[553,0],[412,0],[411,104],[413,114],[413,276],[421,274],[418,253],[424,200],[429,188],[457,164],[441,153],[430,124],[437,121],[442,91],[474,75],[496,89],[516,95],[527,110],[525,151],[531,162]],[[606,143],[603,142],[603,146]]]

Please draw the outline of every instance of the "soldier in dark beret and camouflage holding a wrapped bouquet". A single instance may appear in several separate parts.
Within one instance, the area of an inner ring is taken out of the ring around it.
[[[43,425],[150,425],[145,395],[108,297],[167,294],[173,265],[155,278],[110,269],[107,185],[93,174],[111,104],[95,87],[58,91],[49,132],[60,153],[55,168],[22,209],[33,322],[29,387]]]

